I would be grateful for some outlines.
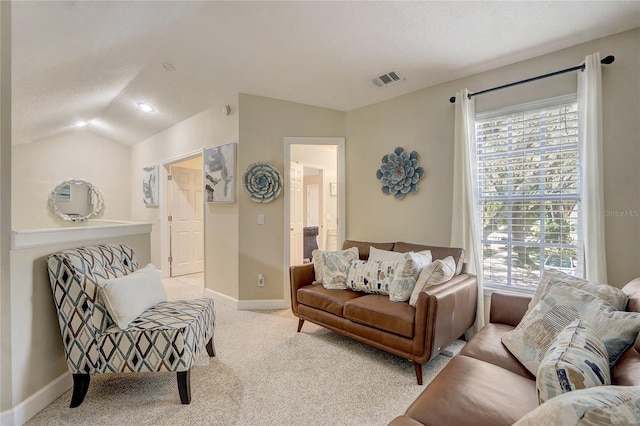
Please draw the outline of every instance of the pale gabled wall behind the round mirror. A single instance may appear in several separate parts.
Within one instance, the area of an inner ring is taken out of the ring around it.
[[[47,206],[50,192],[67,179],[84,179],[104,198],[101,219],[129,220],[131,148],[84,128],[12,149],[13,229],[64,224]]]

